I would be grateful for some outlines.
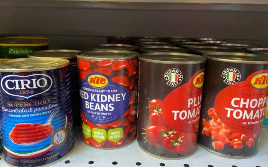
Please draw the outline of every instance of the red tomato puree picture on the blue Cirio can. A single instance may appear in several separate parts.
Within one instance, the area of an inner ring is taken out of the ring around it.
[[[19,123],[10,131],[9,138],[17,144],[29,144],[48,138],[53,131],[52,125]]]

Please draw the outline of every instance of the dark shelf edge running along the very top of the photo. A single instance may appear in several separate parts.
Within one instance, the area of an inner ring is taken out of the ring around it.
[[[268,0],[1,0],[0,6],[268,12]]]

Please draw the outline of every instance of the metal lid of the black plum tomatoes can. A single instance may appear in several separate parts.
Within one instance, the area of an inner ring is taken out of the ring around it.
[[[161,64],[197,64],[206,61],[204,56],[167,52],[141,54],[139,59]]]

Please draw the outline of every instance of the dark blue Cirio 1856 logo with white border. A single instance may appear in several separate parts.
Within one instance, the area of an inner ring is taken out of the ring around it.
[[[52,84],[52,78],[46,74],[7,75],[1,80],[1,88],[5,93],[26,99],[47,92]]]

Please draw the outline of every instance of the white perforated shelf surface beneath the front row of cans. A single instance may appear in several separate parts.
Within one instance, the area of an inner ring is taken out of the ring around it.
[[[268,157],[268,130],[262,131],[259,150],[257,154],[248,159],[227,159],[209,153],[198,146],[195,153],[181,160],[162,160],[149,156],[143,152],[137,141],[130,145],[115,150],[99,150],[87,146],[81,139],[80,129],[75,129],[75,147],[72,153],[53,165],[53,167],[267,167]],[[7,167],[0,155],[0,167]],[[65,164],[69,161],[68,164]],[[89,164],[89,162],[93,164]],[[117,165],[113,165],[117,162]],[[160,165],[161,164],[161,165]],[[185,164],[185,165],[184,165]],[[210,166],[209,166],[210,165]]]

